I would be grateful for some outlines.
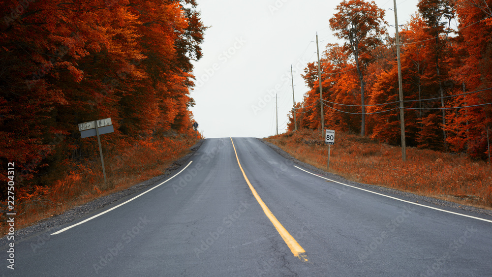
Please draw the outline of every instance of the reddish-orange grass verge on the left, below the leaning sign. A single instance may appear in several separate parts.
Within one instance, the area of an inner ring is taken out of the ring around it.
[[[65,172],[53,173],[52,186],[36,186],[31,193],[16,191],[15,229],[162,175],[174,160],[189,153],[195,143],[196,139],[149,139],[125,148],[118,155],[105,154],[106,185],[100,160],[67,163],[63,166]],[[1,204],[6,207],[7,203]],[[1,236],[8,233],[5,222],[6,218],[1,218]]]

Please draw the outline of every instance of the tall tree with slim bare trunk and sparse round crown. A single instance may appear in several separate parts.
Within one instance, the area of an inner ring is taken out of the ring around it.
[[[337,6],[338,12],[330,19],[335,35],[345,40],[344,47],[354,59],[360,82],[362,123],[361,135],[365,136],[365,81],[366,67],[374,57],[372,50],[382,43],[386,33],[384,10],[364,0],[343,1]]]

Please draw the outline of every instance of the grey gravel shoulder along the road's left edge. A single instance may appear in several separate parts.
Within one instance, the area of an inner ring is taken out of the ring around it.
[[[155,185],[159,183],[161,180],[164,180],[167,178],[169,175],[173,174],[178,168],[183,166],[189,158],[195,154],[195,152],[200,148],[202,145],[203,141],[205,139],[199,140],[195,145],[193,145],[189,149],[189,153],[184,155],[178,160],[175,160],[168,168],[166,168],[166,171],[164,174],[160,176],[156,176],[152,179],[146,180],[144,182],[141,182],[137,185],[133,185],[127,189],[124,189],[122,191],[115,192],[110,195],[106,195],[100,198],[97,198],[95,200],[92,200],[91,202],[88,202],[84,205],[74,207],[70,210],[65,211],[61,215],[55,215],[49,218],[42,219],[35,223],[34,225],[25,227],[23,229],[15,230],[15,240],[16,242],[22,241],[26,238],[29,238],[31,236],[43,233],[51,234],[54,233],[58,230],[61,229],[61,226],[67,223],[70,223],[74,221],[77,218],[80,218],[84,215],[90,214],[96,210],[99,210],[101,208],[104,208],[105,206],[111,205],[112,203],[115,203],[123,198],[129,198],[133,194],[136,194],[145,188]],[[3,248],[7,245],[7,236],[3,236],[0,238],[0,248]]]

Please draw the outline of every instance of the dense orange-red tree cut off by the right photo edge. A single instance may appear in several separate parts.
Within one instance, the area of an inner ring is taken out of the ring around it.
[[[484,105],[492,102],[492,91],[487,90],[492,87],[492,6],[486,0],[460,1],[455,9],[460,25],[453,52],[456,66],[450,75],[461,86],[454,93],[474,93],[453,97],[449,106],[475,107],[448,114],[447,142],[452,149],[466,149],[470,156],[486,159],[492,137],[492,107]]]

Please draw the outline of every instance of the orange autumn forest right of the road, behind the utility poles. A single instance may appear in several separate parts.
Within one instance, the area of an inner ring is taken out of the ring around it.
[[[419,0],[417,7],[399,27],[406,144],[490,160],[492,2]],[[293,109],[296,123],[289,112],[289,131],[320,128],[322,105],[328,129],[401,144],[395,26],[385,12],[363,0],[337,6],[329,22],[341,42],[320,57],[323,99],[318,64],[310,62],[309,91]]]

